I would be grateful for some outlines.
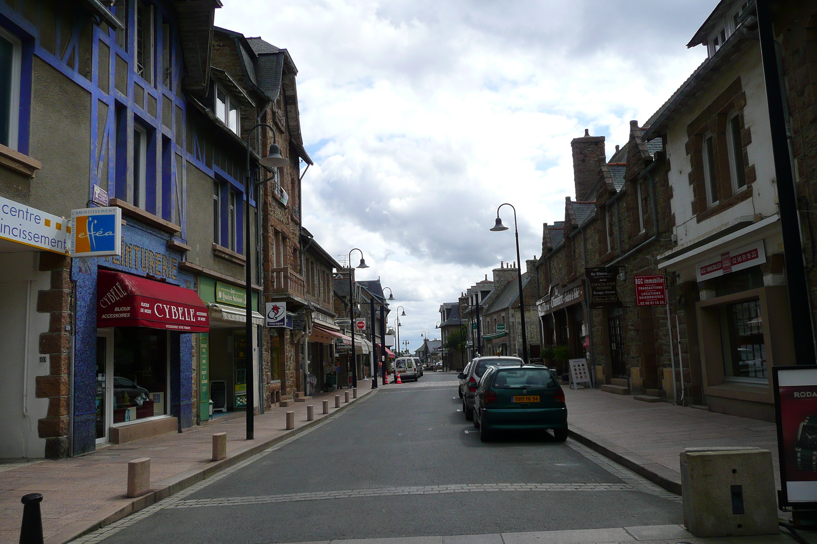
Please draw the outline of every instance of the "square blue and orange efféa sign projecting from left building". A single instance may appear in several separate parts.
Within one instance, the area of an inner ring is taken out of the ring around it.
[[[122,255],[122,210],[85,208],[71,210],[72,257]]]

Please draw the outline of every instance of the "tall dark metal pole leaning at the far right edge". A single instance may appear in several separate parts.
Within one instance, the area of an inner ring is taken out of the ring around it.
[[[766,80],[771,148],[775,157],[777,199],[780,210],[780,229],[783,232],[788,305],[792,314],[795,364],[814,365],[815,344],[811,328],[809,290],[806,283],[806,269],[803,266],[797,195],[794,190],[792,162],[788,151],[783,107],[784,96],[780,90],[775,34],[772,30],[769,0],[757,0],[757,30],[760,34],[763,77]]]

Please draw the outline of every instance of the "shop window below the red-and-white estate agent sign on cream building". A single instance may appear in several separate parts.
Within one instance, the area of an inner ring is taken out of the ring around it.
[[[768,383],[760,300],[718,308],[724,379]]]

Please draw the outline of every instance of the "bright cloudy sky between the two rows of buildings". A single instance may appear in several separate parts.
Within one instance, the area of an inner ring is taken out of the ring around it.
[[[570,139],[624,144],[703,60],[685,44],[717,0],[223,3],[217,25],[297,65],[304,225],[338,260],[364,251],[415,349],[441,302],[516,260],[513,231],[489,232],[502,202],[539,256],[574,197]]]

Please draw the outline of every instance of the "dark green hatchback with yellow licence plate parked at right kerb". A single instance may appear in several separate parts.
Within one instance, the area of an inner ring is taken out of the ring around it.
[[[543,366],[492,366],[476,389],[474,427],[483,442],[496,431],[545,429],[556,440],[567,440],[565,391]]]

